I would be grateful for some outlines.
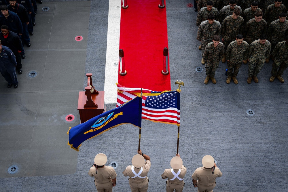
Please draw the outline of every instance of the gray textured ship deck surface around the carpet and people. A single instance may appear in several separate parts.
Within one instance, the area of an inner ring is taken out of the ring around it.
[[[226,84],[226,64],[220,62],[217,84],[204,85],[196,12],[187,0],[167,0],[171,88],[182,80],[179,154],[187,167],[184,192],[197,191],[191,175],[204,155],[212,155],[223,176],[213,191],[287,191],[287,82],[269,82],[271,64],[247,84],[248,65],[242,65],[238,85]],[[88,176],[97,153],[107,164],[117,161],[113,191],[130,191],[122,171],[138,149],[139,130],[131,125],[113,128],[83,142],[76,152],[67,145],[69,126],[79,124],[78,92],[93,73],[93,84],[104,90],[109,1],[43,1],[38,4],[31,47],[19,87],[7,89],[0,77],[0,192],[96,191]],[[48,12],[42,7],[50,7]],[[75,41],[77,35],[82,41]],[[36,71],[35,78],[28,77]],[[144,79],[145,81],[145,79]],[[107,110],[115,104],[107,104]],[[246,111],[252,109],[254,116]],[[66,115],[73,114],[71,122]],[[177,126],[142,121],[141,149],[151,157],[148,191],[166,191],[161,174],[176,154]],[[8,167],[17,165],[16,174]]]

